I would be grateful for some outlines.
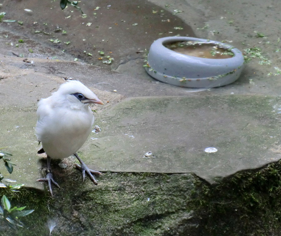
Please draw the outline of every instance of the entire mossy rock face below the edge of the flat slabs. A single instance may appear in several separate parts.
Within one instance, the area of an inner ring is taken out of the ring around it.
[[[26,228],[4,235],[278,235],[281,165],[241,171],[210,185],[193,174],[104,173],[99,184],[81,173],[58,176],[54,197],[34,189],[9,195],[35,211]],[[188,234],[187,234],[188,232]]]

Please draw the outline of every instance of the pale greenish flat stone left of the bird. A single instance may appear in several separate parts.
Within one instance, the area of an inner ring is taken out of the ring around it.
[[[24,184],[40,190],[44,185],[36,182],[42,176],[42,164],[36,155],[38,142],[34,136],[36,113],[31,111],[1,112],[0,138],[3,151],[12,153],[11,162],[15,163],[12,174],[9,174],[0,162],[0,171],[6,179],[16,180],[15,183]],[[6,181],[3,181],[7,184]]]

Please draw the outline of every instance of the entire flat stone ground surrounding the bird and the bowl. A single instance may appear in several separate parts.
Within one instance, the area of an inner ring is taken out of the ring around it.
[[[6,12],[0,23],[1,147],[17,165],[11,175],[1,167],[6,178],[44,189],[36,182],[45,176],[44,156],[36,153],[36,104],[63,77],[79,79],[105,103],[92,107],[101,132],[79,152],[98,171],[194,173],[214,184],[280,159],[278,1],[86,0],[79,6],[86,15],[71,6],[61,11],[58,1],[0,7]],[[175,35],[239,48],[248,57],[241,77],[203,91],[151,78],[143,68],[151,43]],[[111,64],[103,63],[107,55]],[[207,147],[218,151],[206,153]],[[148,151],[152,156],[145,157]],[[73,173],[74,160],[62,162],[68,167],[54,177],[59,183]]]

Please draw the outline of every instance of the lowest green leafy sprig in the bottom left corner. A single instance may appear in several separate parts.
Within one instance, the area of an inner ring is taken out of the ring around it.
[[[2,207],[0,206],[0,219],[4,220],[4,222],[10,226],[12,229],[17,229],[18,227],[23,227],[22,222],[19,220],[20,217],[26,216],[32,213],[34,210],[23,210],[23,207],[12,207],[8,198],[3,195],[2,196]]]

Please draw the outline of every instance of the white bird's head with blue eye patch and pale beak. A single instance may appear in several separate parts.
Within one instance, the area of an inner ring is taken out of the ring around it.
[[[103,105],[103,102],[98,99],[96,94],[78,80],[67,80],[66,83],[59,87],[56,94],[77,105],[93,103]]]

